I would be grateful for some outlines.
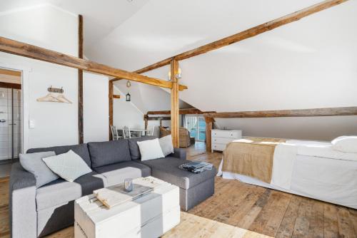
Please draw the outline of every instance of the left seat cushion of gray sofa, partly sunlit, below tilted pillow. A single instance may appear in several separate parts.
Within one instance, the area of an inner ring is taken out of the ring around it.
[[[64,205],[79,197],[90,195],[93,190],[104,187],[105,177],[96,172],[83,175],[74,182],[59,179],[40,187],[36,192],[36,209]]]

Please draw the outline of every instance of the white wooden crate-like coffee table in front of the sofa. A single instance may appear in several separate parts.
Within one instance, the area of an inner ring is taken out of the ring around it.
[[[175,227],[180,222],[178,187],[155,177],[133,180],[141,184],[150,181],[156,183],[153,192],[111,209],[94,195],[77,199],[74,237],[160,237]]]

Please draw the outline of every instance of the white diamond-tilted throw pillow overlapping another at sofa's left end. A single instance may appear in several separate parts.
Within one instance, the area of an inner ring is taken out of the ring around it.
[[[42,160],[56,175],[69,182],[92,171],[86,162],[72,150],[61,155],[45,157]]]

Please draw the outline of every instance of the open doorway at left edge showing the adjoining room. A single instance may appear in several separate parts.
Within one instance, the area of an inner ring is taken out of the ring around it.
[[[23,147],[21,74],[0,68],[0,177],[9,176]]]

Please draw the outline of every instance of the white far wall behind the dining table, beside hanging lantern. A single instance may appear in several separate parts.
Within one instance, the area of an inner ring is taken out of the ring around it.
[[[119,94],[121,98],[115,99],[113,103],[113,124],[117,128],[129,126],[130,128],[144,128],[144,113],[141,112],[132,102],[125,100],[126,93],[121,92],[114,86],[114,94]]]

